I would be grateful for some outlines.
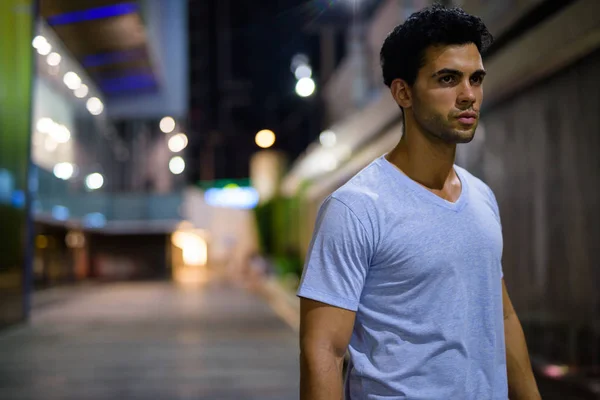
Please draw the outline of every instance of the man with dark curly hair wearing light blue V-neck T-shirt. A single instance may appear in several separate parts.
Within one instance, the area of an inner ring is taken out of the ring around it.
[[[454,165],[475,134],[491,41],[481,19],[441,6],[385,40],[404,135],[319,211],[298,290],[302,400],[540,399],[496,200]]]

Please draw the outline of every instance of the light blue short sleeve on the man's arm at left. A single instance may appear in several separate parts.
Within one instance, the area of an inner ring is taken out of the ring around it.
[[[356,311],[372,253],[356,214],[329,197],[317,216],[298,296]]]

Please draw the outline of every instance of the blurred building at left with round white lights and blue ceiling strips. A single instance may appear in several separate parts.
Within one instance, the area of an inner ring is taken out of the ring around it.
[[[170,274],[189,97],[186,1],[1,14],[0,325],[27,316],[32,285]]]

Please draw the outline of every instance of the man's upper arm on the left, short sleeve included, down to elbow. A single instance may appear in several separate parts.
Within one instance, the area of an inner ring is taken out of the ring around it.
[[[357,215],[336,198],[326,200],[298,289],[304,356],[344,356],[371,256],[372,239]]]

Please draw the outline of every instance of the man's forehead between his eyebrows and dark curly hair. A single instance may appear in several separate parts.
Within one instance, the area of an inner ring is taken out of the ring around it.
[[[473,43],[450,46],[431,46],[425,50],[424,72],[435,73],[444,68],[455,69],[466,74],[483,69],[483,61]]]

